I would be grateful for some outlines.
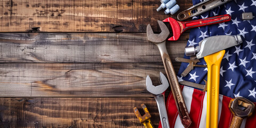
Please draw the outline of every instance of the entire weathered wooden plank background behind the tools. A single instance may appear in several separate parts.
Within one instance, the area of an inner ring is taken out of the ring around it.
[[[181,10],[191,1],[177,1]],[[143,127],[132,108],[164,71],[148,23],[176,15],[157,12],[156,0],[3,0],[0,2],[0,127]],[[180,12],[179,11],[179,12]],[[38,28],[39,27],[39,28]],[[175,71],[189,33],[167,42]],[[165,73],[164,73],[165,74]],[[167,90],[167,94],[170,88]],[[167,95],[166,95],[167,96]]]

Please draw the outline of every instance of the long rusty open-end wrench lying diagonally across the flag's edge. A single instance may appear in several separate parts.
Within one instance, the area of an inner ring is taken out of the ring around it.
[[[183,99],[180,85],[178,82],[178,78],[175,74],[175,71],[174,71],[174,68],[172,65],[172,61],[169,57],[169,54],[168,54],[168,52],[166,50],[166,46],[165,46],[165,41],[166,41],[167,37],[169,36],[170,32],[169,32],[169,29],[167,28],[167,26],[164,24],[164,22],[159,21],[159,20],[157,22],[158,22],[159,27],[161,28],[161,33],[154,34],[151,26],[148,25],[147,26],[147,37],[148,37],[148,40],[150,42],[153,42],[158,47],[158,49],[160,51],[160,54],[161,54],[161,57],[163,60],[163,64],[164,64],[164,69],[166,71],[167,78],[171,85],[171,91],[173,94],[173,98],[175,100],[176,107],[178,109],[181,123],[183,124],[183,126],[189,127],[190,124],[192,123],[192,121],[189,117],[188,110],[187,110],[185,101]]]

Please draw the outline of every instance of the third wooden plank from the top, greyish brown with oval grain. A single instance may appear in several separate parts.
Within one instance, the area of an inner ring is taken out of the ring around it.
[[[178,71],[179,63],[174,63]],[[162,63],[1,63],[0,97],[153,97]]]

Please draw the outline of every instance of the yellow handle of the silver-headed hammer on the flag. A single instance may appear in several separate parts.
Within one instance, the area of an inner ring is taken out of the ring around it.
[[[206,128],[218,127],[220,63],[224,54],[222,50],[204,57],[208,69]]]

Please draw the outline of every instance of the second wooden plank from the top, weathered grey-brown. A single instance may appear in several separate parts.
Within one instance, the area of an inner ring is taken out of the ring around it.
[[[167,42],[171,60],[183,57],[189,33]],[[0,62],[162,62],[159,50],[141,34],[0,34]]]

